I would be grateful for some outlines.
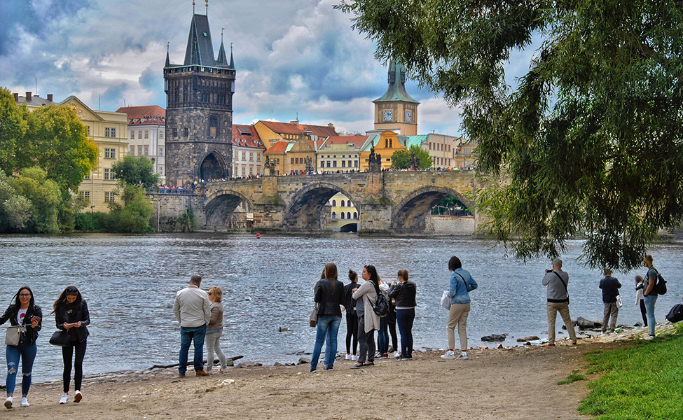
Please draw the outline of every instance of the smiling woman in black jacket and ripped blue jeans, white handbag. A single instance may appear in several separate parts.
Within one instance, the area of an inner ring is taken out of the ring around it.
[[[5,407],[13,407],[14,388],[17,384],[17,369],[19,368],[19,360],[21,360],[22,381],[21,381],[21,402],[22,407],[28,407],[29,402],[26,399],[29,395],[29,388],[31,388],[31,371],[33,370],[33,362],[36,360],[36,353],[38,353],[38,346],[36,346],[36,339],[38,332],[43,328],[42,324],[43,311],[33,298],[33,292],[29,286],[23,286],[14,295],[14,303],[7,307],[6,311],[0,316],[0,325],[7,320],[11,325],[22,325],[19,334],[19,344],[16,346],[8,345],[5,351],[7,360],[7,379],[5,381],[7,399],[5,400]]]

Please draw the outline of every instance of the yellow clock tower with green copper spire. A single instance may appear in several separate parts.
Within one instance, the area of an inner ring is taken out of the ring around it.
[[[375,130],[392,130],[405,136],[418,134],[420,102],[406,92],[406,68],[389,61],[389,87],[375,104]]]

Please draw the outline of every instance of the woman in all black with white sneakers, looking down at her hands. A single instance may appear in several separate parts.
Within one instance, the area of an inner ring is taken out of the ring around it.
[[[81,402],[81,383],[83,382],[83,358],[85,358],[85,347],[87,344],[88,332],[87,325],[90,324],[90,312],[88,304],[83,300],[81,292],[76,286],[67,286],[60,297],[57,297],[53,304],[53,314],[58,330],[67,330],[71,340],[69,344],[62,347],[62,360],[64,360],[64,372],[62,372],[62,383],[64,385],[60,404],[69,402],[69,382],[71,381],[71,358],[75,356],[74,369],[74,402]]]

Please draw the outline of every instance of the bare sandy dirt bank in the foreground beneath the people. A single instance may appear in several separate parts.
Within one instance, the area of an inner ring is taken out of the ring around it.
[[[228,368],[209,377],[188,370],[183,379],[172,369],[131,372],[86,379],[78,404],[58,404],[61,383],[35,384],[31,407],[0,407],[0,418],[589,419],[577,412],[587,381],[557,383],[584,367],[584,352],[620,345],[588,339],[579,346],[474,349],[470,360],[429,351],[359,370],[338,360],[333,371],[317,374],[308,365]]]

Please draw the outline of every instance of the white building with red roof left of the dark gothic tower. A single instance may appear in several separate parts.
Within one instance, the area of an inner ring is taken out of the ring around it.
[[[128,116],[128,154],[145,156],[166,181],[166,110],[158,105],[125,106],[116,110]]]

